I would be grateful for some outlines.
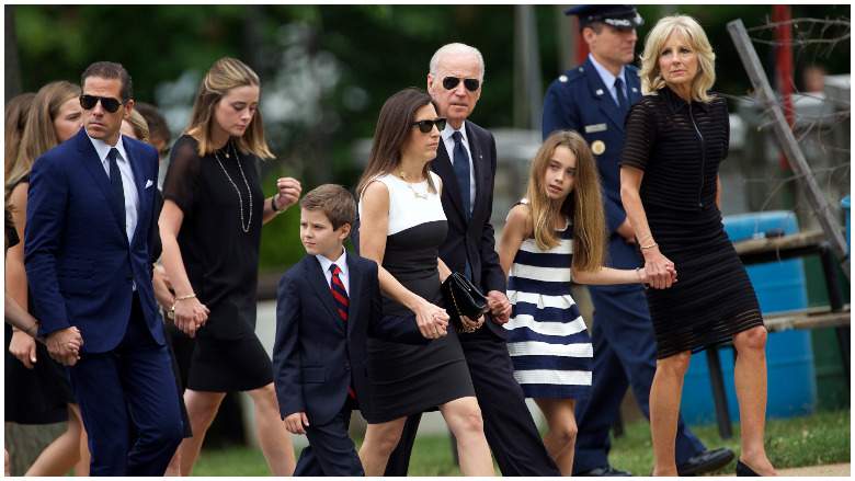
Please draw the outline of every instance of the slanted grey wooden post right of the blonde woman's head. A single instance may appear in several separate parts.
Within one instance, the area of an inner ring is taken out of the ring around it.
[[[840,226],[834,219],[831,211],[831,206],[825,201],[825,196],[817,184],[817,180],[813,177],[813,173],[808,165],[808,161],[805,160],[805,154],[799,148],[796,137],[793,135],[793,130],[787,124],[787,119],[784,116],[784,112],[780,110],[775,94],[772,91],[772,87],[768,83],[766,72],[763,70],[763,65],[760,62],[756,50],[751,43],[751,38],[745,31],[745,25],[742,20],[734,20],[728,23],[728,32],[733,39],[733,44],[739,51],[739,57],[742,60],[742,65],[745,67],[751,84],[754,85],[754,91],[763,111],[767,115],[772,116],[772,126],[775,130],[775,136],[778,138],[784,154],[789,161],[790,168],[797,175],[797,180],[801,183],[801,186],[807,193],[808,202],[810,203],[817,219],[825,232],[825,237],[829,239],[832,250],[836,257],[841,261],[843,272],[850,277],[850,259],[846,253],[846,240],[843,239],[843,232],[841,232]]]

